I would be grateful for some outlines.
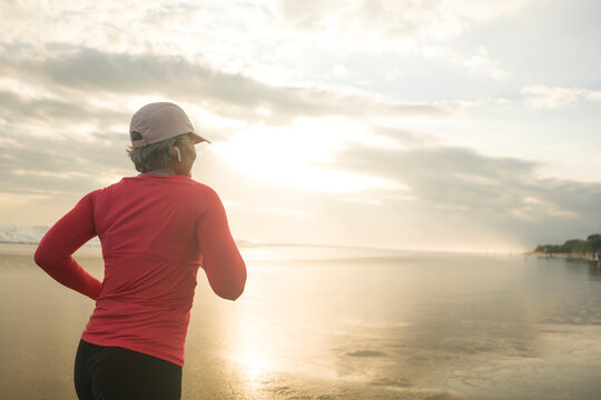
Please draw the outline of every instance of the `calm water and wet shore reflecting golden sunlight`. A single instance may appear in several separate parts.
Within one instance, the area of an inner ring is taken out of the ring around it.
[[[0,246],[2,399],[70,399],[93,302]],[[183,399],[600,399],[601,270],[523,254],[253,246],[199,270]],[[78,260],[101,277],[98,248]]]

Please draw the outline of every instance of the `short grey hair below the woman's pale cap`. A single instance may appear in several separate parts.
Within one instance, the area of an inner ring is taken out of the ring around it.
[[[129,147],[127,148],[127,154],[138,172],[149,172],[165,168],[174,160],[170,144],[174,139],[181,150],[194,146],[190,136],[184,133],[141,148],[134,149]]]

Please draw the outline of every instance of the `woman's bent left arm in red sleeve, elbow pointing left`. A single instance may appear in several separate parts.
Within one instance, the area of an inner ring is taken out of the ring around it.
[[[36,263],[58,282],[96,300],[100,296],[102,283],[71,257],[96,236],[91,194],[83,197],[46,232],[33,258]]]

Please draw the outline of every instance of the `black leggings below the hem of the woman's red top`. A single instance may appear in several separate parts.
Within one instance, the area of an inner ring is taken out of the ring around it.
[[[181,367],[138,351],[80,340],[75,386],[79,400],[179,400]]]

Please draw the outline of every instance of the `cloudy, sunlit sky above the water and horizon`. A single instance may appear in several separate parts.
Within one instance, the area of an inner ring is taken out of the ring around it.
[[[521,251],[601,232],[601,3],[0,3],[0,224],[135,176],[173,101],[236,239]]]

